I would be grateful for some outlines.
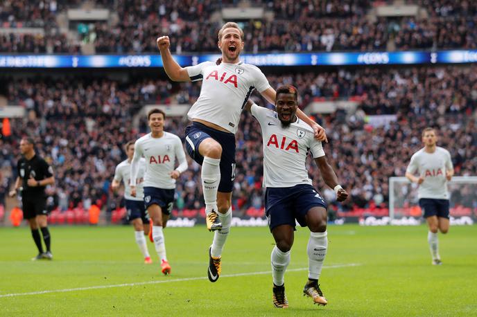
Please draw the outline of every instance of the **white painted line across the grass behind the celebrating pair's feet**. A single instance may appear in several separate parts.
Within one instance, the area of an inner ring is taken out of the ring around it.
[[[360,266],[361,264],[349,263],[349,264],[336,264],[330,266],[323,266],[323,269],[338,269],[341,267],[347,266]],[[307,267],[300,269],[288,269],[287,272],[295,271],[305,271]],[[220,278],[234,278],[236,276],[247,276],[247,275],[261,275],[261,274],[271,274],[272,271],[261,271],[261,272],[248,272],[248,273],[236,273],[236,274],[224,274],[220,275]],[[15,297],[15,296],[27,296],[27,295],[41,295],[48,293],[67,293],[70,291],[87,291],[89,289],[112,289],[114,287],[128,287],[128,286],[139,286],[139,285],[148,285],[148,284],[162,284],[162,283],[172,283],[172,282],[187,282],[193,280],[207,280],[207,276],[200,276],[198,278],[177,278],[176,280],[160,280],[160,281],[149,281],[149,282],[135,282],[135,283],[124,283],[124,284],[113,284],[113,285],[98,285],[90,287],[77,287],[76,289],[52,289],[50,291],[31,291],[28,293],[11,293],[0,295],[0,298],[3,297]]]

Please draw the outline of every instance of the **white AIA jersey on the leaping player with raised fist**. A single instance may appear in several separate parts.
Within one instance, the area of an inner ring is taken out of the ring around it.
[[[203,62],[186,67],[192,81],[202,80],[200,96],[187,116],[202,119],[235,134],[245,103],[254,89],[270,88],[268,80],[254,65]]]

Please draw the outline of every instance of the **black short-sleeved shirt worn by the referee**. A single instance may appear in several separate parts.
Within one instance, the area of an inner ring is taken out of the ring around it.
[[[33,177],[37,181],[47,179],[53,176],[53,169],[48,163],[40,156],[33,156],[31,160],[27,160],[24,157],[19,159],[17,164],[17,173],[21,178],[21,184],[23,186],[23,194],[33,194],[37,196],[44,196],[45,186],[33,186],[30,187],[27,184],[28,179]]]

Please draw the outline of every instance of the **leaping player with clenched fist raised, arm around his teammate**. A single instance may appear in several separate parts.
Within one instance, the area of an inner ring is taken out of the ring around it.
[[[275,90],[256,66],[239,60],[243,50],[243,30],[228,22],[218,31],[221,62],[203,62],[182,68],[169,51],[168,36],[157,38],[164,70],[171,80],[202,80],[200,96],[188,113],[186,147],[193,160],[202,165],[202,191],[205,200],[207,229],[213,230],[209,248],[207,275],[216,282],[220,275],[220,256],[232,222],[232,187],[235,178],[235,136],[241,111],[250,94],[257,89],[269,102],[275,102]],[[311,125],[318,138],[326,138],[324,129],[297,111]]]

